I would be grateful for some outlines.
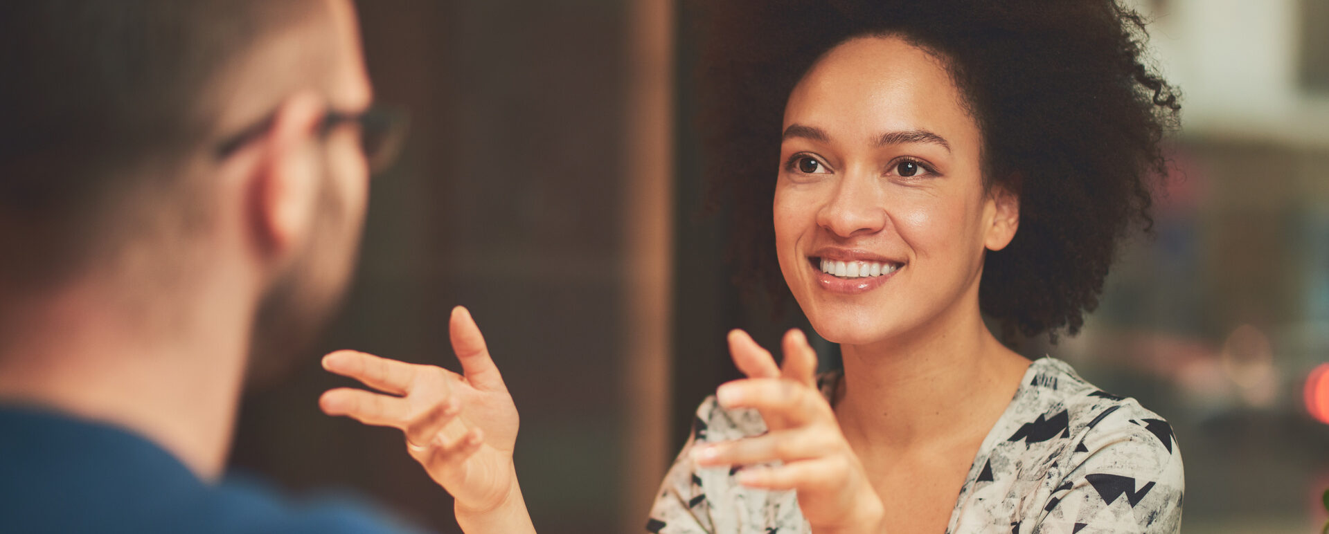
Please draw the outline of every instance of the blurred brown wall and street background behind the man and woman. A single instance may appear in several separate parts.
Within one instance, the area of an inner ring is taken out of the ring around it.
[[[1329,488],[1329,1],[1135,0],[1184,132],[1156,235],[1134,242],[1076,337],[1031,343],[1167,417],[1185,452],[1185,533],[1305,533]],[[522,416],[517,469],[541,533],[643,531],[691,413],[738,373],[730,328],[772,319],[703,217],[675,0],[365,0],[377,100],[411,110],[375,179],[360,270],[310,361],[256,388],[234,464],[338,488],[428,529],[452,502],[396,430],[322,416],[356,348],[456,369],[470,307]],[[720,214],[723,215],[723,214]],[[821,347],[833,360],[833,347]]]

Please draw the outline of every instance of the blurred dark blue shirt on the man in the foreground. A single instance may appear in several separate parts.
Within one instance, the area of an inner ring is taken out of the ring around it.
[[[350,502],[294,505],[256,484],[206,484],[117,426],[0,406],[4,533],[405,533]]]

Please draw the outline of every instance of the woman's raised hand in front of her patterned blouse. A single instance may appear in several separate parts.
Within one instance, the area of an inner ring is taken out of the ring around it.
[[[817,534],[880,533],[884,507],[831,404],[816,385],[817,356],[797,329],[784,336],[784,367],[743,331],[730,332],[730,353],[747,379],[716,392],[726,409],[762,413],[763,436],[698,445],[698,466],[748,466],[739,484],[797,490],[803,517]],[[776,466],[754,466],[780,461]]]

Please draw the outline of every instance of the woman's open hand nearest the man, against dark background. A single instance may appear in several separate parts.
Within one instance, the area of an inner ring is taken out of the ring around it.
[[[389,395],[338,388],[319,405],[330,416],[400,429],[407,453],[456,499],[460,522],[504,509],[525,517],[512,462],[517,408],[466,308],[453,308],[449,335],[464,375],[338,351],[323,357],[324,369]]]

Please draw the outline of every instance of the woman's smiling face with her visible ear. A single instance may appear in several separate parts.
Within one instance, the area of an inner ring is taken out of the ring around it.
[[[847,41],[789,94],[783,132],[776,252],[819,333],[890,343],[978,317],[983,251],[1018,206],[985,191],[978,125],[938,58]]]

